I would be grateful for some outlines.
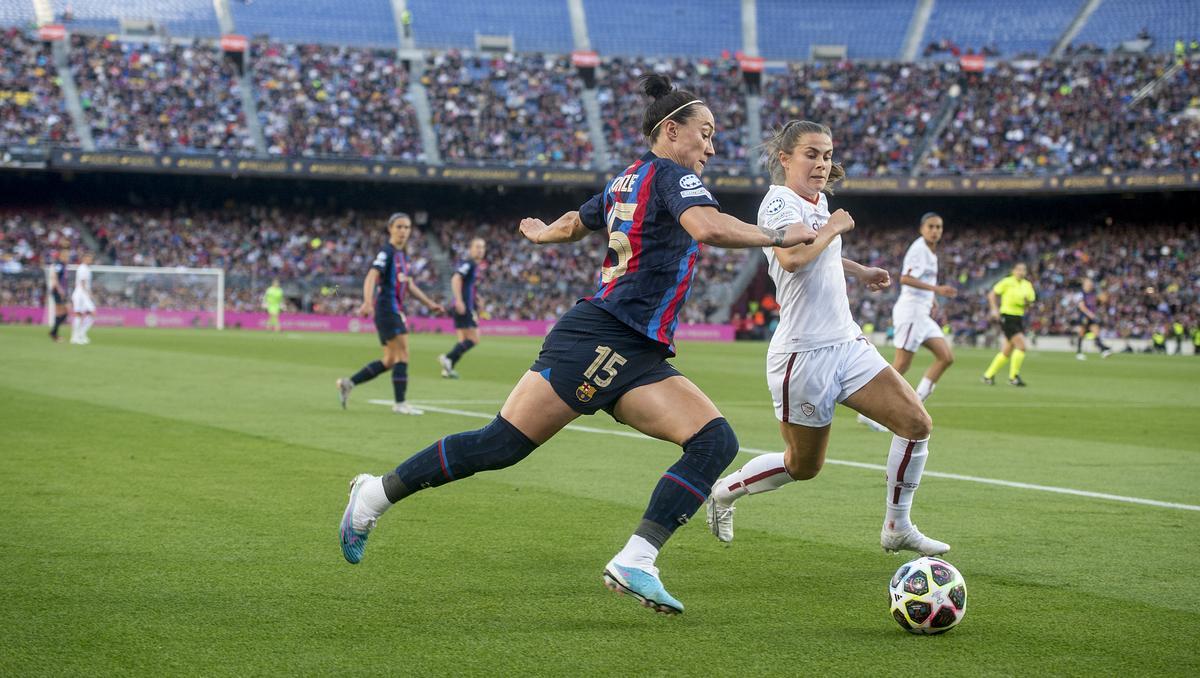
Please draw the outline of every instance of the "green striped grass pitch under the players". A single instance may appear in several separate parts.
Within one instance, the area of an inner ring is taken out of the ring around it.
[[[485,415],[538,347],[486,337],[449,382],[452,341],[412,338],[410,400]],[[743,446],[780,449],[764,350],[676,364]],[[1022,390],[979,384],[990,355],[960,350],[930,400],[928,470],[1200,504],[1200,358],[1031,353]],[[392,415],[370,402],[386,378],[341,410],[334,380],[377,356],[372,335],[0,328],[0,676],[1200,674],[1186,506],[926,476],[914,520],[970,594],[918,637],[888,616],[882,472],[830,464],[742,502],[730,546],[702,515],[682,528],[659,564],[686,613],[665,618],[600,574],[678,449],[564,431],[406,500],[348,565],[349,479],[482,424]],[[888,443],[839,408],[829,457],[882,464]]]

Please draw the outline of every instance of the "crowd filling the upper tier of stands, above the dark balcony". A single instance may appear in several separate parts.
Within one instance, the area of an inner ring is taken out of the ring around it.
[[[408,64],[395,50],[256,41],[253,92],[275,156],[421,161]],[[1146,85],[1181,62],[1152,94]],[[70,64],[98,148],[252,154],[238,68],[210,41],[74,35]],[[586,167],[594,150],[582,80],[568,56],[434,52],[424,62],[431,122],[448,163]],[[732,59],[606,59],[600,124],[612,163],[644,152],[637,77],[662,72],[709,102],[709,167],[752,172],[743,76]],[[0,144],[79,144],[49,49],[16,29],[0,44]],[[962,96],[948,96],[954,84]],[[925,174],[1069,174],[1200,167],[1200,59],[1170,54],[992,61],[798,62],[763,78],[763,127],[810,118],[834,131],[852,176],[907,175],[943,108]],[[757,139],[755,139],[755,143]]]

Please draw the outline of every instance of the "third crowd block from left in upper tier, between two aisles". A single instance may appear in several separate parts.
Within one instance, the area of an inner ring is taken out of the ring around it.
[[[252,54],[269,154],[424,160],[395,50],[256,42]]]

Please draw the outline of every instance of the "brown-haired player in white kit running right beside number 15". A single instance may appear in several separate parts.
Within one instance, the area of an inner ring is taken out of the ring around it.
[[[854,228],[854,220],[845,210],[830,215],[823,194],[844,175],[833,162],[833,136],[824,125],[793,120],[766,149],[774,185],[758,210],[758,226],[782,228],[803,221],[817,232],[811,245],[764,248],[780,304],[779,329],[767,354],[767,384],[786,451],[757,456],[719,480],[707,503],[709,528],[721,541],[732,541],[737,499],[816,476],[840,402],[895,433],[888,454],[883,550],[944,553],[950,547],[923,535],[908,517],[932,421],[912,386],[863,336],[850,313],[847,275],[870,289],[887,287],[890,278],[883,269],[841,257],[841,234]]]

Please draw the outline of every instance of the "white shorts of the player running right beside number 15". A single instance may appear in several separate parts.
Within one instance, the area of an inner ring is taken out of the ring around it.
[[[775,418],[820,428],[833,421],[838,403],[888,367],[866,337],[798,353],[767,354],[767,386]]]

